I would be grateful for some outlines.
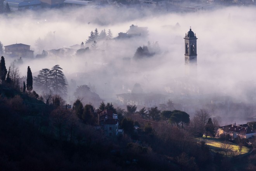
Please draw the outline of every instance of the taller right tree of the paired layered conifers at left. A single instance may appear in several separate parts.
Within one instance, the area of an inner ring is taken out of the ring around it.
[[[66,95],[67,84],[61,70],[62,68],[59,65],[52,67],[50,70],[50,84],[55,94]]]

